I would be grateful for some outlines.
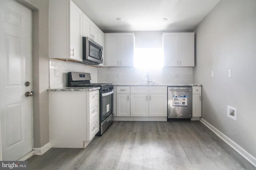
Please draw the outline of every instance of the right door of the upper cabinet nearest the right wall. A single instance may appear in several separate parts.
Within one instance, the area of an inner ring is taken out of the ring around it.
[[[194,33],[179,34],[180,66],[195,66]]]

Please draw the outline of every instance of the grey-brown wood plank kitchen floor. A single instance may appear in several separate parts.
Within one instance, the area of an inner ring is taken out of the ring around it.
[[[115,121],[86,149],[52,148],[31,170],[256,170],[200,121]]]

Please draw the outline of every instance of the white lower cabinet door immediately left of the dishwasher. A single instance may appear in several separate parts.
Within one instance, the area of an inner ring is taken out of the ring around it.
[[[149,94],[149,116],[167,117],[167,94]]]

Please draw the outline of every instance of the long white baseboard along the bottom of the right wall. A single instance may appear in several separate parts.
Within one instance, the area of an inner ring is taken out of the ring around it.
[[[220,137],[224,142],[226,142],[230,147],[232,147],[236,152],[242,155],[246,160],[248,160],[251,164],[256,167],[256,158],[252,156],[249,152],[244,150],[240,145],[232,141],[229,137],[224,135],[221,131],[216,129],[216,127],[212,126],[208,121],[204,120],[203,118],[200,121],[206,125],[211,131],[213,131],[218,137]]]

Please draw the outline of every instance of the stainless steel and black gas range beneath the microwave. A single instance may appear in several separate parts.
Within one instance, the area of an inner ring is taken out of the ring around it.
[[[114,88],[111,83],[90,83],[90,80],[90,73],[68,72],[69,87],[100,87],[100,131],[98,135],[102,136],[113,122]]]

